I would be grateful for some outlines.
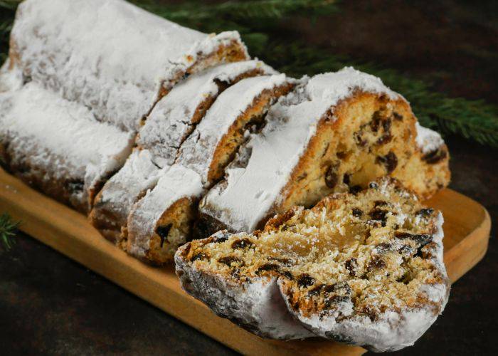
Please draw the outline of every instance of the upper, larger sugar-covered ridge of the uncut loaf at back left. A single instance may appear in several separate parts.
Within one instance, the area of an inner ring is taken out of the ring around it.
[[[26,0],[11,32],[11,61],[24,75],[136,131],[185,74],[243,61],[237,32],[207,35],[123,0]]]

